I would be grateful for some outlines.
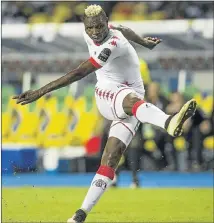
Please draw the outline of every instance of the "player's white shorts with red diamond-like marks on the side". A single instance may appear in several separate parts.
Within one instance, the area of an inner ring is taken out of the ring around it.
[[[109,137],[120,139],[126,146],[135,135],[140,122],[134,116],[127,115],[123,110],[123,100],[135,93],[144,98],[144,93],[139,94],[134,88],[112,82],[98,82],[95,86],[95,98],[99,112],[108,120],[112,120]]]

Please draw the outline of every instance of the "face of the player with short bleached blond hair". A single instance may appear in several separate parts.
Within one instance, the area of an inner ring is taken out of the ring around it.
[[[101,43],[108,35],[108,20],[105,16],[86,18],[84,25],[88,36],[97,43]]]

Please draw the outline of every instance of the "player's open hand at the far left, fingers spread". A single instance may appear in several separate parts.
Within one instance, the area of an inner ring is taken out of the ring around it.
[[[35,90],[35,91],[29,90],[29,91],[26,91],[20,95],[14,96],[13,99],[17,100],[16,104],[21,103],[21,105],[26,105],[33,101],[38,100],[41,97],[42,97],[42,94],[41,94],[40,90]]]

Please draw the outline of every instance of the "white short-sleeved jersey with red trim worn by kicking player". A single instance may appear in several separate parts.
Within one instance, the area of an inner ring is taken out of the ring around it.
[[[110,29],[108,37],[100,45],[95,44],[85,31],[83,35],[88,45],[90,61],[100,68],[95,72],[98,82],[125,84],[144,93],[138,55],[120,31]]]

